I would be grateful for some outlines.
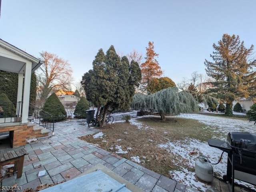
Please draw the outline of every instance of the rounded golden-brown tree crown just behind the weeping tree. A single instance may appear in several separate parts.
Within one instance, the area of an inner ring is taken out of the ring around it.
[[[150,93],[155,93],[162,89],[166,89],[168,87],[175,87],[175,86],[176,86],[175,82],[173,82],[172,79],[168,77],[153,78],[152,80],[149,81],[147,90]]]

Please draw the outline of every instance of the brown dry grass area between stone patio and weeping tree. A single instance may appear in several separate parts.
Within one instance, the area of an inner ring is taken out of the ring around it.
[[[158,145],[167,141],[182,141],[188,137],[207,141],[213,135],[204,124],[197,120],[172,117],[162,121],[159,118],[146,117],[138,121],[144,124],[140,129],[126,122],[114,123],[102,127],[103,138],[94,139],[93,135],[87,135],[80,139],[98,144],[102,149],[111,152],[118,151],[115,146],[119,145],[123,151],[128,151],[128,153],[118,155],[126,159],[139,156],[142,166],[170,178],[169,171],[179,169],[176,163],[181,157],[173,155]],[[131,149],[128,150],[129,148]]]

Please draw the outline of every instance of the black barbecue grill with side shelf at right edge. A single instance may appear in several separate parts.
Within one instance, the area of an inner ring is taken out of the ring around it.
[[[234,179],[256,185],[256,135],[230,132],[227,141],[209,139],[208,144],[228,153],[227,173],[223,180],[234,192]]]

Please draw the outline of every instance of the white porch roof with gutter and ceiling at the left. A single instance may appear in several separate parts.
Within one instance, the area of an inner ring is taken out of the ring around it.
[[[22,51],[18,47],[15,47],[14,45],[11,45],[10,43],[7,43],[2,39],[0,39],[0,48],[1,47],[4,49],[2,49],[2,51],[0,49],[0,70],[15,73],[24,73],[25,65],[22,61],[20,61],[20,59],[18,59],[18,57],[24,58],[25,60],[32,62],[32,72],[38,69],[38,67],[40,67],[42,63],[44,63],[40,59],[37,59],[36,57],[26,53],[25,51]],[[10,52],[14,53],[16,56],[8,54]],[[8,63],[8,65],[5,65],[5,63]]]

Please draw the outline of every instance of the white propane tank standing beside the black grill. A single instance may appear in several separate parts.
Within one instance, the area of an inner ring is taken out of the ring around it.
[[[213,167],[208,162],[207,157],[200,156],[195,162],[196,175],[203,181],[212,182],[213,181]]]

